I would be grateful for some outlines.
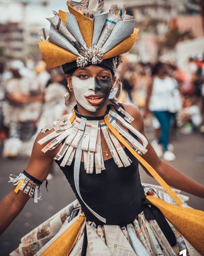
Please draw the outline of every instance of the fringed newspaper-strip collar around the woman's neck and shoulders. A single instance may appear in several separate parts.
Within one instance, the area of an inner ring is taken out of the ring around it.
[[[127,116],[127,112],[123,112]],[[129,114],[128,114],[129,115]],[[127,122],[116,112],[110,110],[108,113],[108,119],[114,128],[125,138],[128,144],[140,155],[147,152],[148,141],[146,138],[133,126],[130,122]],[[71,119],[71,121],[70,121]],[[133,118],[129,116],[127,118],[132,121]],[[129,131],[137,136],[142,141],[139,143],[128,131],[124,129],[126,127]],[[53,122],[52,125],[48,125],[42,129],[42,133],[54,129],[54,131],[40,141],[39,144],[44,144],[50,141],[42,151],[45,153],[48,150],[56,148],[61,142],[62,147],[55,156],[55,160],[62,160],[60,166],[71,165],[74,158],[75,151],[81,141],[81,148],[84,157],[84,169],[87,173],[93,173],[94,165],[96,173],[101,173],[105,170],[104,160],[102,157],[102,145],[101,145],[101,131],[105,138],[105,141],[110,150],[111,156],[118,167],[127,167],[131,164],[130,158],[125,153],[121,143],[116,136],[109,130],[104,120],[89,121],[86,118],[75,117],[75,113],[65,115],[62,120]],[[95,160],[95,163],[94,163]]]

